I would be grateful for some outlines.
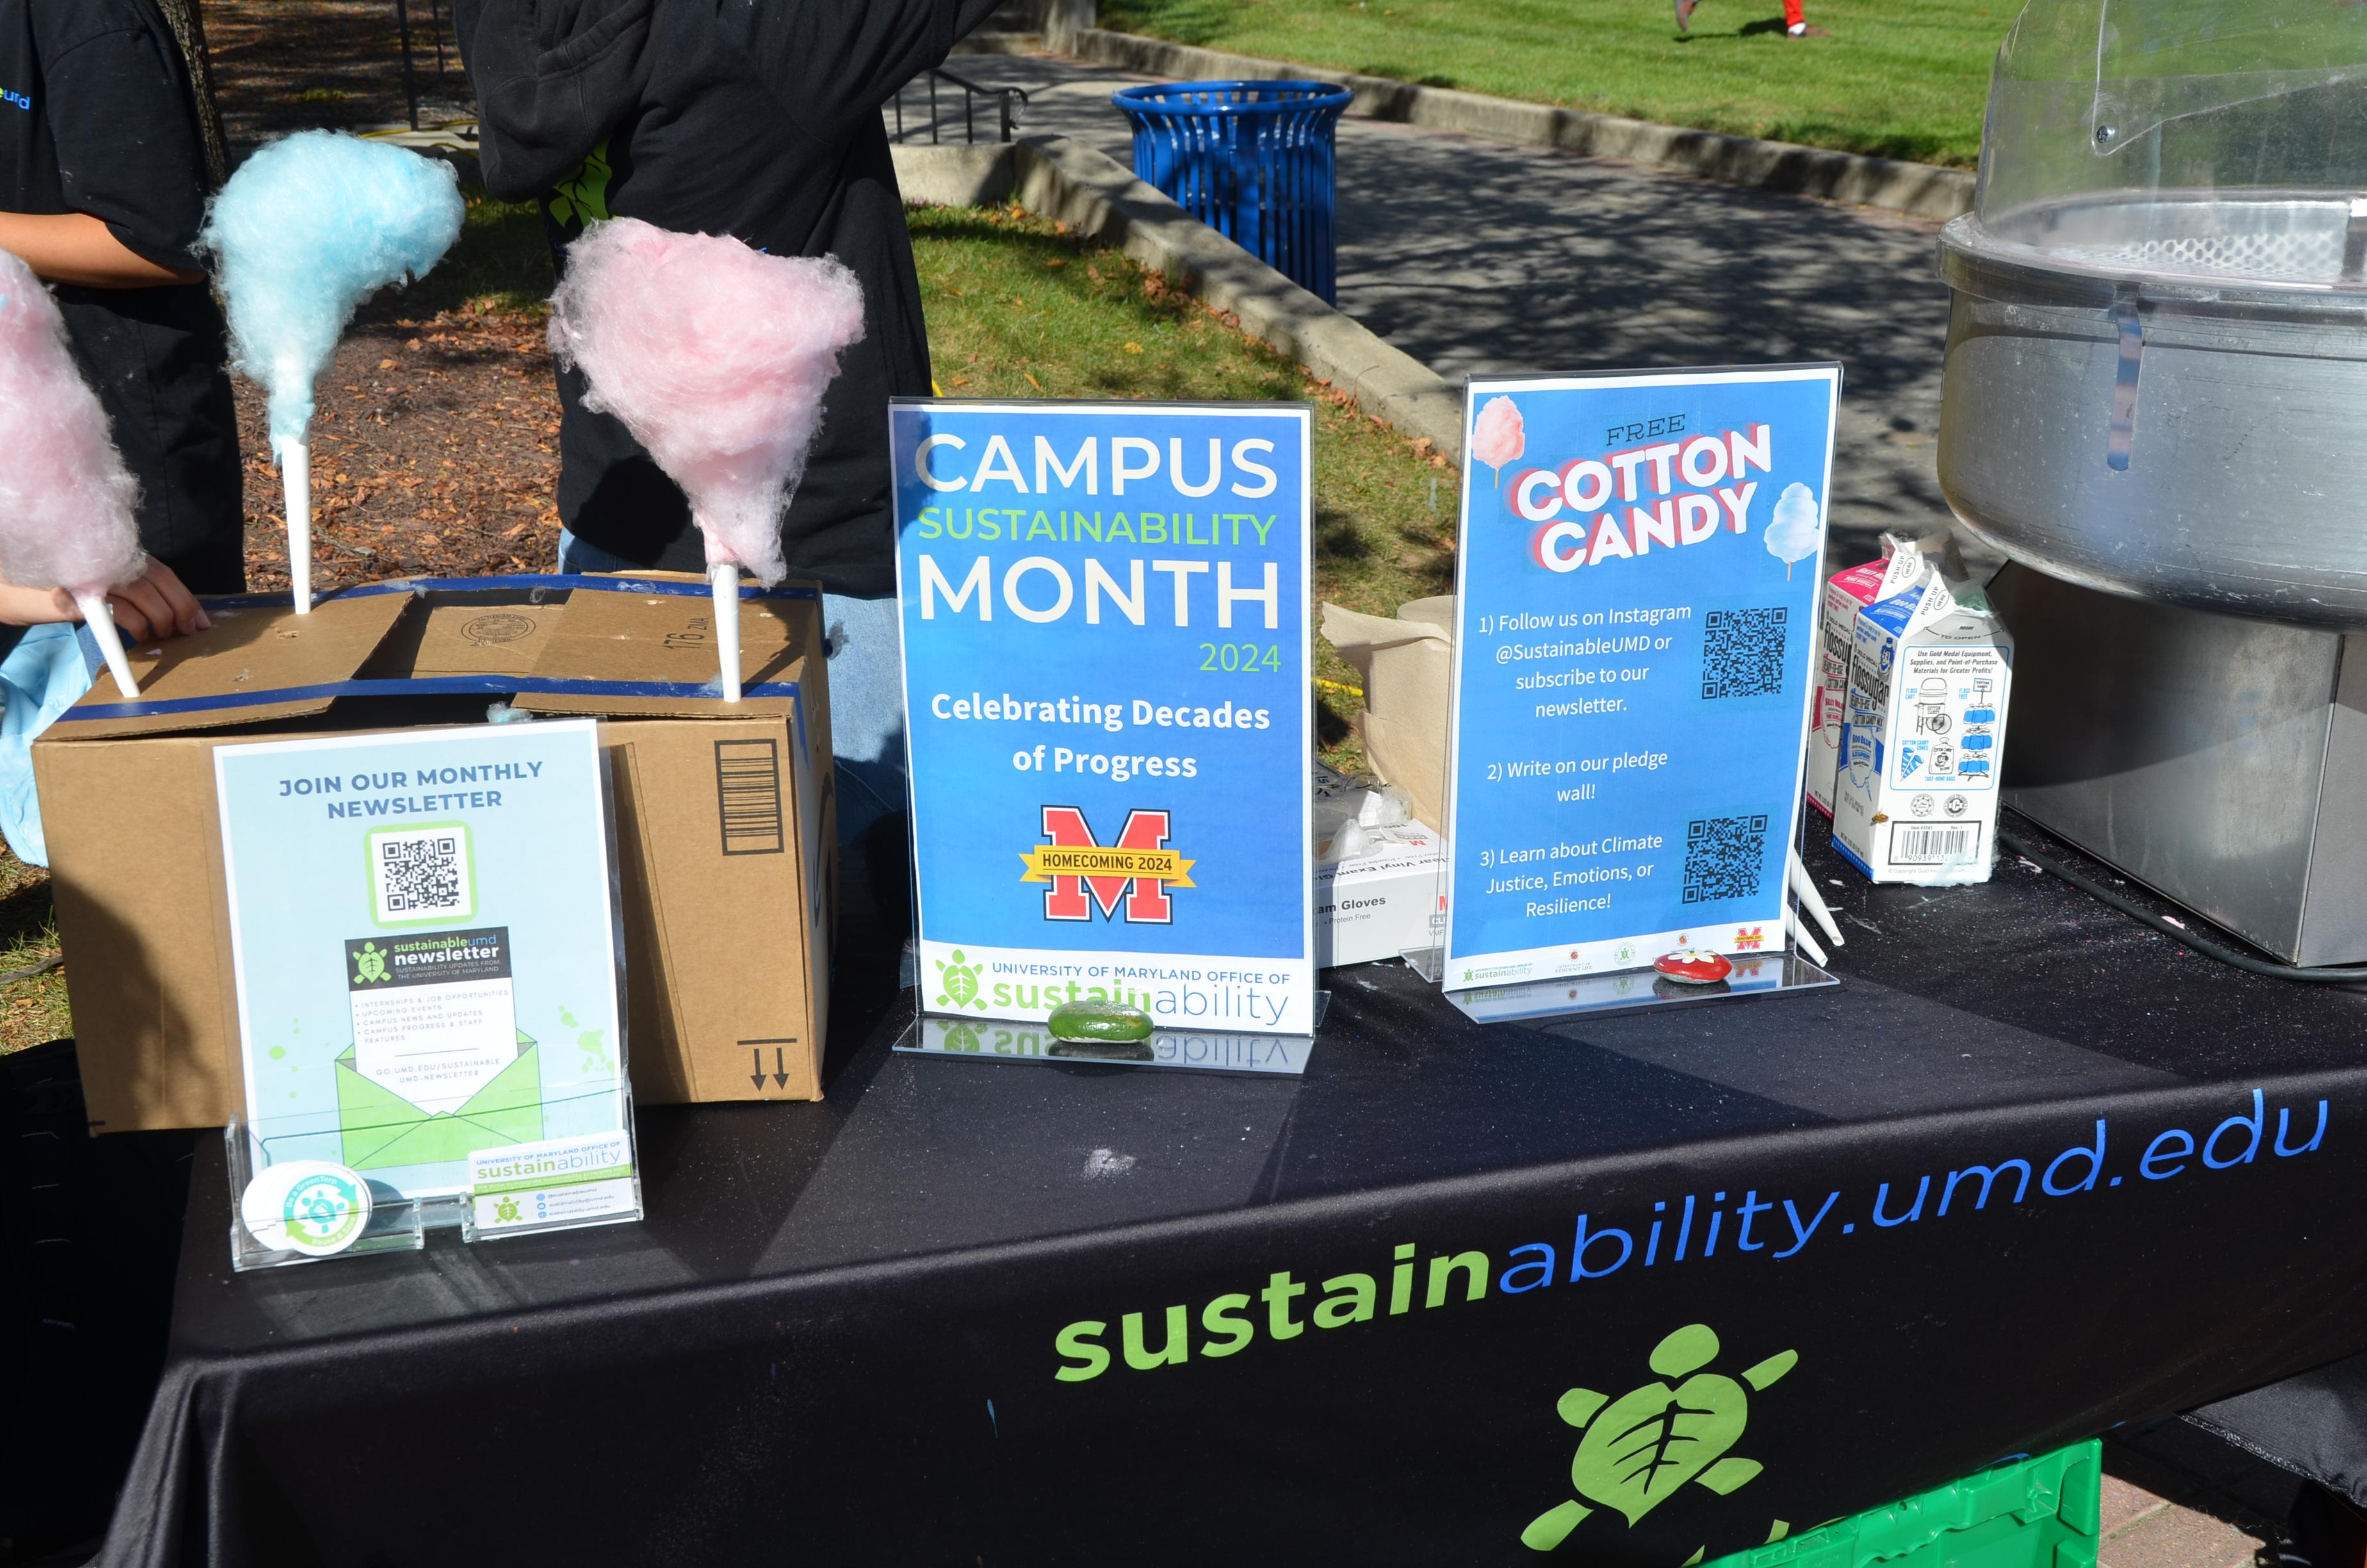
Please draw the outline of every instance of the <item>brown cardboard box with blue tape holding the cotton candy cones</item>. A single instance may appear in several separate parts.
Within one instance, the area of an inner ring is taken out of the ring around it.
[[[213,748],[495,708],[604,720],[634,1097],[821,1099],[836,857],[812,587],[741,599],[734,706],[703,578],[208,611],[213,630],[135,651],[140,701],[102,675],[33,746],[92,1130],[218,1127],[244,1104]]]

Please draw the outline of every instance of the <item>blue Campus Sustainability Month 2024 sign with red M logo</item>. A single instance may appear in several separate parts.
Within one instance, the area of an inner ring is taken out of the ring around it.
[[[921,1004],[1314,1028],[1309,415],[897,403]]]

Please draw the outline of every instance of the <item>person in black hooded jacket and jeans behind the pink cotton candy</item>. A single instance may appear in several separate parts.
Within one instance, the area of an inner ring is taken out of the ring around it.
[[[904,810],[888,398],[928,396],[928,332],[881,104],[997,0],[454,0],[485,189],[542,204],[552,249],[599,218],[836,256],[864,339],[781,516],[831,625],[840,838]],[[682,490],[559,372],[563,571],[705,571]]]

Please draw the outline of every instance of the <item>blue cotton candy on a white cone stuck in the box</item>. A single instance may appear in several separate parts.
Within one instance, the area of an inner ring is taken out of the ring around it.
[[[312,384],[355,308],[426,275],[464,216],[450,163],[329,130],[263,147],[206,216],[237,365],[270,391],[298,616],[312,609]]]

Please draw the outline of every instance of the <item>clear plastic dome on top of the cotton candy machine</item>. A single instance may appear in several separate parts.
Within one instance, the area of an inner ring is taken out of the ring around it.
[[[2031,0],[1974,218],[2076,270],[2367,287],[2367,5]]]

